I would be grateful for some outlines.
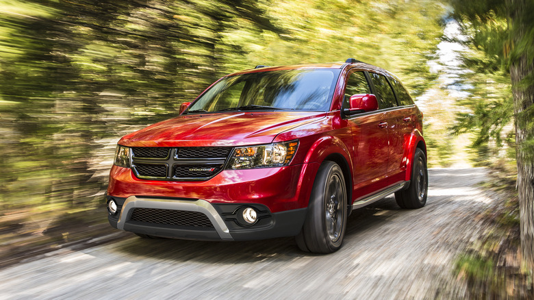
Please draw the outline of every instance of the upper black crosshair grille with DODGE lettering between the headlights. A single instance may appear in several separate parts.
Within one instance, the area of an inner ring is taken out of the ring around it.
[[[133,147],[132,168],[141,179],[207,180],[223,170],[232,147]]]

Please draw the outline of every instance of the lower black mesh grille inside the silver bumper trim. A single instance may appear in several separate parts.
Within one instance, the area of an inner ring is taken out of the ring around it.
[[[188,212],[186,210],[134,208],[130,219],[131,221],[185,227],[214,227],[212,221],[209,221],[209,218],[202,212]]]

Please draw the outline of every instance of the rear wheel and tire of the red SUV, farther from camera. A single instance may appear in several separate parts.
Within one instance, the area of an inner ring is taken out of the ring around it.
[[[422,208],[427,203],[429,171],[424,152],[416,148],[411,164],[411,180],[408,188],[395,192],[395,200],[401,208]]]

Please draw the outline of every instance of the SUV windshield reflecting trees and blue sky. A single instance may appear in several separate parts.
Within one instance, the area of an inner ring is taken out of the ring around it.
[[[340,70],[281,70],[225,77],[188,109],[327,111]]]

